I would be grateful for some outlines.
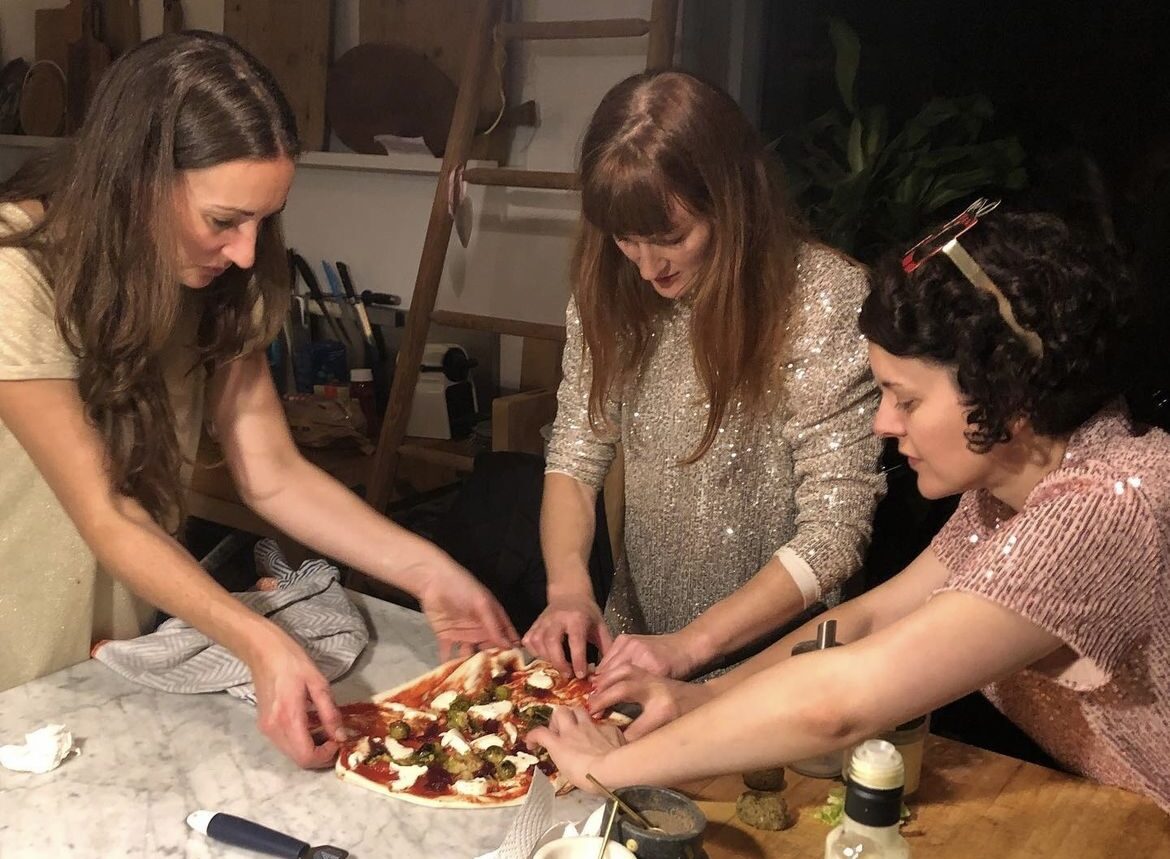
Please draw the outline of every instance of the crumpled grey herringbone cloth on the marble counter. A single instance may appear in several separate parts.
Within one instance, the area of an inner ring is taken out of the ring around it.
[[[234,593],[295,638],[321,673],[336,680],[353,665],[370,641],[365,620],[324,561],[307,561],[296,570],[276,543],[256,543],[256,566],[280,582],[275,591]],[[125,641],[106,641],[94,658],[128,680],[163,692],[227,692],[256,702],[248,666],[185,620],[171,618],[154,632]]]

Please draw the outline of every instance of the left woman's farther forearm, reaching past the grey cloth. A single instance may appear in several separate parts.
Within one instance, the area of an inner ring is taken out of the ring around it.
[[[256,514],[322,555],[418,593],[417,570],[441,556],[441,549],[378,514],[300,455],[280,473],[278,482],[247,497]]]

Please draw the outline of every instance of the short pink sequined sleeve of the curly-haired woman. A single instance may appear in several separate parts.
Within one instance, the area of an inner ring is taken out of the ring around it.
[[[1010,609],[1113,676],[1156,623],[1159,538],[1141,481],[1048,480],[1002,523],[980,513],[992,503],[968,493],[931,542],[950,571],[941,590]]]

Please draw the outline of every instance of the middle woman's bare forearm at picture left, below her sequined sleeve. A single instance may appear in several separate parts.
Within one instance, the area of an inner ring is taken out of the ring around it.
[[[597,529],[597,495],[567,474],[546,474],[541,502],[541,550],[549,597],[589,593],[589,558]]]

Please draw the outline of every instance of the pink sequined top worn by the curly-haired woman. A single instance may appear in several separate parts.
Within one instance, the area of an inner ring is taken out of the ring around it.
[[[1071,770],[1170,812],[1170,435],[1108,408],[1019,513],[968,493],[931,545],[942,590],[1067,645],[984,689],[991,702]]]

